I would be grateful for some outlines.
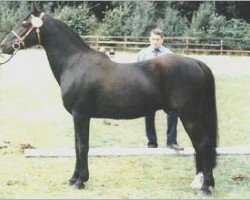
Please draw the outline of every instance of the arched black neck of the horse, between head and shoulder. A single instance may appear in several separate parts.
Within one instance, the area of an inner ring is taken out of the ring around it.
[[[52,18],[44,23],[41,39],[52,72],[59,84],[62,73],[71,66],[70,62],[90,51],[90,48],[69,27]]]

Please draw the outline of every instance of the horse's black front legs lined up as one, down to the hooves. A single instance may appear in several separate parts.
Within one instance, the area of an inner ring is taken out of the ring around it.
[[[77,112],[73,113],[75,127],[76,166],[69,184],[77,189],[84,187],[89,179],[88,151],[89,151],[89,123],[90,118]]]

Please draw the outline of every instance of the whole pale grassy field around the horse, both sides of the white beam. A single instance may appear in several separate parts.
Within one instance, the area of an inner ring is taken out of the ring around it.
[[[202,57],[216,77],[219,145],[246,146],[250,144],[250,75],[221,72],[234,69],[232,63],[245,70],[249,60],[219,58]],[[106,122],[92,119],[90,147],[145,147],[143,118]],[[164,147],[166,115],[161,111],[156,127],[159,145]],[[90,180],[82,191],[67,186],[74,158],[24,158],[22,151],[30,146],[74,146],[72,118],[62,106],[44,52],[20,52],[1,68],[0,132],[0,198],[199,198],[189,188],[195,173],[193,157],[91,157]],[[181,122],[178,141],[191,146]],[[219,156],[212,198],[249,198],[249,161],[247,155]]]

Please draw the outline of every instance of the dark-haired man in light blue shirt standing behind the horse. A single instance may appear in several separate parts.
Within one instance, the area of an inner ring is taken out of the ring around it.
[[[163,32],[156,28],[150,32],[150,46],[147,48],[142,49],[137,55],[137,61],[144,61],[151,58],[155,58],[157,56],[161,56],[164,54],[172,54],[173,52],[164,47],[163,41]],[[157,148],[157,135],[155,131],[155,112],[147,115],[145,117],[145,127],[146,127],[146,136],[148,138],[148,147],[149,148]],[[183,150],[181,146],[177,143],[177,123],[178,123],[178,116],[177,113],[171,110],[167,114],[167,147],[174,149],[174,150]]]

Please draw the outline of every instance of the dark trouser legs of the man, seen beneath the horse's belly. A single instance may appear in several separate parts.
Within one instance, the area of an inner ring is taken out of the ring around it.
[[[177,144],[177,123],[177,113],[174,111],[170,111],[167,115],[167,144]],[[148,143],[157,144],[157,135],[155,131],[155,112],[145,117],[145,125]]]

